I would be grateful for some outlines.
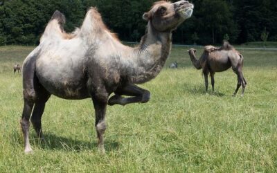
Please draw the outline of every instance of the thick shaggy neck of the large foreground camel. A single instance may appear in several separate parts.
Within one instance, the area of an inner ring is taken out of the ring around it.
[[[128,74],[129,80],[139,84],[155,78],[163,68],[171,49],[171,32],[157,32],[148,24],[141,44],[134,48],[136,67]]]

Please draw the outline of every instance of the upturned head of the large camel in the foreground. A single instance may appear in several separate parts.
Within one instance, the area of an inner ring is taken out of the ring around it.
[[[159,32],[172,31],[193,15],[193,4],[188,1],[158,1],[149,12],[145,12],[143,19],[147,20]]]

